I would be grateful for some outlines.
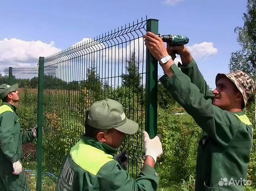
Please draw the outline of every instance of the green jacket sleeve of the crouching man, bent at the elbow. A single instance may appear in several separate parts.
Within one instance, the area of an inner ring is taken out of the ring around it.
[[[117,162],[106,163],[97,174],[100,189],[106,191],[156,191],[159,176],[155,169],[145,164],[138,178],[131,178]]]

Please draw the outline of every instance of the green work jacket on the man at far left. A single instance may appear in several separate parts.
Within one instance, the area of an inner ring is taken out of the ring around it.
[[[4,102],[0,106],[0,161],[13,163],[21,160],[22,144],[33,139],[32,131],[21,132],[16,107]]]

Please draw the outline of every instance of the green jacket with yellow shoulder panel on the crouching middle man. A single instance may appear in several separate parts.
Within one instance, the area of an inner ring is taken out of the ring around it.
[[[159,176],[144,165],[134,180],[113,159],[116,149],[82,136],[67,157],[57,182],[56,191],[156,191]]]

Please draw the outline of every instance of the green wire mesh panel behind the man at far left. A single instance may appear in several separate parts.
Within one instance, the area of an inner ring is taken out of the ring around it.
[[[9,68],[5,69],[9,75]],[[20,100],[16,103],[22,131],[30,131],[37,124],[37,84],[38,67],[12,68],[12,84],[18,83]],[[36,140],[25,144],[22,166],[31,191],[36,191],[37,149]]]

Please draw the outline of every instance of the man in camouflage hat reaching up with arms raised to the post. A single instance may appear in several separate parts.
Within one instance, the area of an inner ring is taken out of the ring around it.
[[[164,70],[160,82],[203,130],[195,190],[244,191],[253,127],[243,110],[255,90],[254,81],[241,71],[218,74],[216,89],[210,91],[185,46],[167,44],[166,49],[161,38],[150,32],[144,38]],[[175,53],[181,56],[181,70],[169,56]]]

